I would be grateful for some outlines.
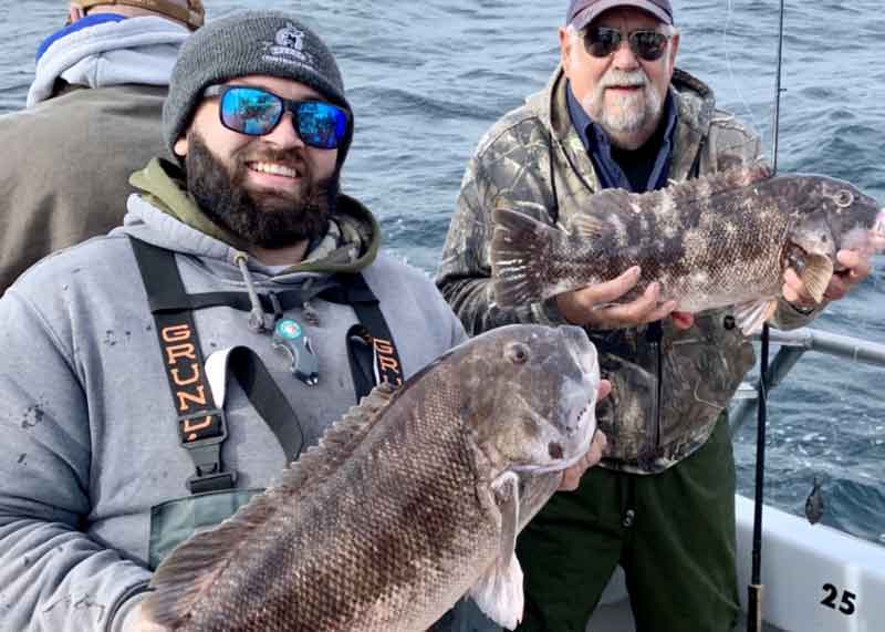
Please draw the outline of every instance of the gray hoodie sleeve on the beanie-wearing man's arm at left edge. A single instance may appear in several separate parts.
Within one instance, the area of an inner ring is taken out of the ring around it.
[[[123,630],[150,574],[82,532],[101,466],[74,360],[14,289],[0,322],[0,630]]]

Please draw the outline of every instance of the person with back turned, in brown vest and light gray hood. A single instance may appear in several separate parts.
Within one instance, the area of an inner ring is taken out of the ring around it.
[[[28,107],[0,116],[0,296],[50,252],[118,225],[128,174],[163,148],[178,48],[201,0],[72,0],[37,53]]]

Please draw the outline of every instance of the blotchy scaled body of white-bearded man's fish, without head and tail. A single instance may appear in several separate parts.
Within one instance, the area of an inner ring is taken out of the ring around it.
[[[652,194],[604,191],[593,215],[605,230],[593,241],[579,236],[553,246],[550,284],[602,282],[611,270],[638,265],[642,279],[624,301],[653,281],[662,284],[662,300],[675,299],[687,312],[775,296],[792,200],[778,197],[789,183],[771,184],[709,190],[696,179]]]

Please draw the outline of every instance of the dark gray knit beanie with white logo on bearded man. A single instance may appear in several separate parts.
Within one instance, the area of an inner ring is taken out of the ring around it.
[[[316,33],[281,11],[233,13],[207,23],[178,52],[163,106],[163,135],[169,151],[190,124],[206,87],[252,74],[303,83],[351,110],[335,58]],[[352,136],[353,116],[339,147],[339,164]]]

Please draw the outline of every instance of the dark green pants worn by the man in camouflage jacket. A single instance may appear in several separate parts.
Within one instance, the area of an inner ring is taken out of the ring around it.
[[[620,563],[637,632],[730,632],[738,610],[735,460],[726,415],[667,472],[589,470],[522,532],[520,632],[584,632]]]

